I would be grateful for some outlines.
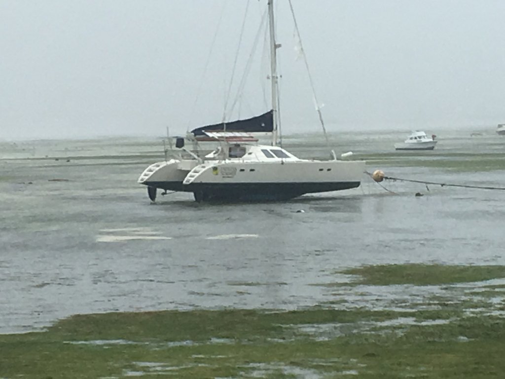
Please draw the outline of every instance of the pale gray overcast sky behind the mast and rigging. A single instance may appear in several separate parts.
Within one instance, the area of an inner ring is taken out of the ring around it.
[[[221,121],[246,4],[0,0],[0,139],[163,135]],[[505,1],[293,7],[330,131],[505,122]],[[234,90],[265,8],[249,0]],[[287,0],[276,8],[283,130],[317,131]],[[232,119],[267,110],[263,43],[261,34]]]

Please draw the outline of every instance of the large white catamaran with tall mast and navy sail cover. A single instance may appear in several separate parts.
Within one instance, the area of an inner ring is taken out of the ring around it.
[[[279,201],[308,193],[339,191],[361,184],[364,161],[300,159],[278,143],[278,74],[273,0],[268,1],[272,110],[256,117],[196,128],[176,138],[172,159],[147,167],[138,182],[147,186],[151,201],[157,190],[192,192],[201,201]],[[296,23],[295,23],[296,28]],[[297,31],[297,28],[295,29]],[[305,58],[305,57],[304,57]],[[312,94],[315,99],[315,94]],[[317,110],[322,123],[320,109]],[[322,123],[323,131],[324,124]],[[271,134],[271,145],[258,135]],[[191,145],[191,149],[185,147]],[[212,152],[201,145],[214,142]],[[348,156],[350,154],[345,154]]]

